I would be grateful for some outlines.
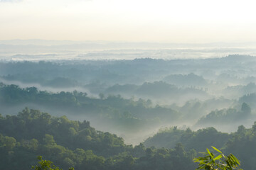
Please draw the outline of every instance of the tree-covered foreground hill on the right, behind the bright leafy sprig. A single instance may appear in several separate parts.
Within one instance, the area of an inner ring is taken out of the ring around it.
[[[214,128],[206,128],[197,131],[179,130],[176,127],[160,130],[153,137],[149,137],[144,145],[157,148],[173,148],[180,142],[187,149],[196,149],[204,152],[206,147],[215,146],[221,148],[225,154],[234,154],[241,161],[241,168],[246,170],[256,169],[256,122],[252,128],[240,125],[233,133],[218,132]]]

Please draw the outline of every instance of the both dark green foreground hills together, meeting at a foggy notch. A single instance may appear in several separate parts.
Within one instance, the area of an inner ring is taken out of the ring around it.
[[[210,146],[232,152],[242,168],[255,169],[255,126],[231,134],[214,128],[160,130],[144,143],[125,145],[122,137],[95,130],[90,122],[53,117],[25,108],[0,116],[1,169],[29,169],[42,155],[68,169],[195,169],[193,159]],[[15,164],[14,164],[15,162]]]

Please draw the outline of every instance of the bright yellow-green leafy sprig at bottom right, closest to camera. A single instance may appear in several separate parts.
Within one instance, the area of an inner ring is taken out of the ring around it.
[[[206,169],[206,170],[233,170],[238,169],[240,166],[240,161],[233,155],[229,154],[225,156],[223,152],[215,147],[212,147],[215,152],[218,152],[218,155],[213,154],[210,152],[209,149],[206,149],[207,152],[204,153],[204,157],[198,157],[193,159],[194,162],[198,162],[197,169]],[[242,169],[240,169],[242,170]]]

